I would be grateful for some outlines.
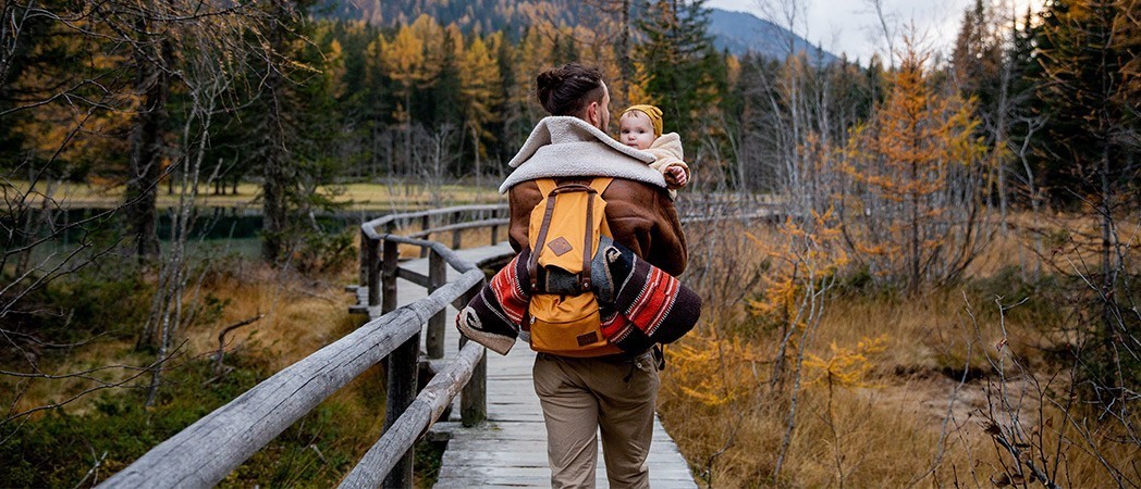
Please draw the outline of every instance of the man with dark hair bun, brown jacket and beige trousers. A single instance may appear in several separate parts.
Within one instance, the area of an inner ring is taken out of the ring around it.
[[[665,180],[647,165],[652,155],[606,133],[610,96],[601,72],[568,64],[536,81],[540,101],[552,116],[511,160],[516,170],[500,187],[511,206],[511,246],[518,252],[528,244],[531,212],[543,198],[535,179],[613,177],[602,198],[614,241],[670,275],[681,274],[686,241]],[[594,486],[596,431],[610,487],[649,487],[646,457],[658,390],[650,351],[591,358],[539,353],[533,377],[547,424],[552,487]]]

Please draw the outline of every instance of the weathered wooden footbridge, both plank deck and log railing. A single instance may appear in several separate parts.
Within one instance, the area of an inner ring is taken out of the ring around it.
[[[512,255],[499,239],[501,229],[505,237],[505,205],[472,205],[363,223],[364,285],[350,290],[358,296],[353,310],[367,313],[367,323],[163,441],[99,487],[212,487],[380,361],[388,365],[385,432],[340,487],[412,487],[412,447],[426,435],[448,440],[436,487],[549,487],[547,431],[531,382],[533,352],[518,344],[508,356],[488,358],[451,326],[455,305],[483,286],[480,267]],[[723,215],[710,209],[695,214],[701,217],[694,220]],[[396,233],[412,223],[420,231]],[[489,244],[461,248],[461,236],[471,229],[488,229]],[[451,248],[428,239],[447,234]],[[420,258],[402,263],[402,245],[419,247]],[[435,375],[421,386],[422,367]],[[451,414],[440,419],[445,413]],[[648,462],[652,487],[696,488],[686,461],[656,421]],[[607,487],[601,457],[597,480]]]

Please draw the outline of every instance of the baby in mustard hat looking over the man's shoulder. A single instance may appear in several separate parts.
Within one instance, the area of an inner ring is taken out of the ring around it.
[[[662,133],[662,109],[653,105],[633,105],[618,119],[618,141],[654,156],[650,168],[665,177],[670,197],[689,182],[689,165],[682,161],[681,138],[677,132]]]

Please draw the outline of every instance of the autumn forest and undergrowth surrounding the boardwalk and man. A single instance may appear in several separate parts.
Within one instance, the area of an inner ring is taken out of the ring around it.
[[[698,483],[1141,487],[1141,2],[954,14],[849,59],[719,51],[704,0],[6,1],[0,484],[91,487],[358,326],[356,225],[504,202],[578,62],[681,136],[680,212],[783,217],[687,227],[659,413]],[[335,483],[377,389],[224,486]]]

